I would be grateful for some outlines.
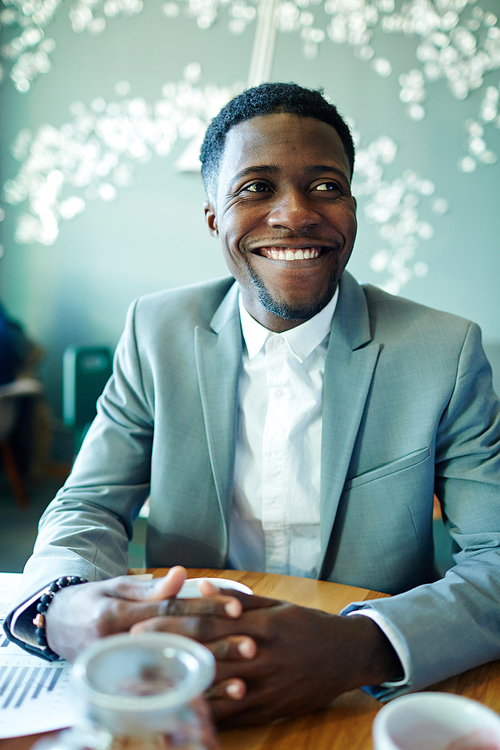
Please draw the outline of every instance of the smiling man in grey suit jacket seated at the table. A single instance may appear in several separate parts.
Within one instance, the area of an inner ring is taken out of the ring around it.
[[[230,102],[202,148],[207,226],[236,279],[143,298],[71,477],[42,519],[12,635],[56,576],[127,565],[150,496],[150,566],[236,567],[379,589],[332,616],[184,571],[50,594],[48,650],[173,630],[217,657],[217,719],[265,721],[355,687],[391,697],[500,657],[500,416],[477,326],[360,287],[354,147],[294,84]],[[434,491],[456,567],[433,570]],[[56,586],[57,588],[57,586]],[[26,595],[27,595],[26,594]]]

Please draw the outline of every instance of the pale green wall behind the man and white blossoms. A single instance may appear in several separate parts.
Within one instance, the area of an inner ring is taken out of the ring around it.
[[[498,2],[484,0],[481,7],[494,10]],[[25,95],[15,92],[6,76],[0,84],[2,182],[19,168],[9,148],[22,128],[35,132],[43,123],[60,127],[70,119],[72,102],[90,106],[95,97],[115,99],[118,81],[130,82],[130,96],[154,101],[164,83],[180,81],[185,66],[196,61],[202,67],[199,85],[244,83],[255,25],[235,37],[228,34],[227,16],[222,14],[214,27],[201,31],[194,20],[167,20],[156,3],[146,3],[134,18],[110,19],[106,31],[94,38],[71,30],[63,6],[46,32],[57,43],[53,69]],[[5,40],[11,30],[3,34]],[[376,76],[350,47],[329,40],[317,60],[306,61],[297,36],[279,34],[272,77],[324,86],[340,111],[356,121],[362,146],[390,136],[398,155],[387,167],[388,179],[411,169],[435,183],[436,195],[449,202],[450,210],[430,217],[434,237],[416,251],[415,261],[428,264],[428,275],[411,280],[401,293],[480,323],[500,373],[500,168],[498,163],[483,165],[463,174],[456,167],[464,153],[463,123],[477,115],[485,87],[457,101],[444,82],[428,84],[427,117],[414,122],[398,99],[398,76],[416,67],[415,40],[378,30],[374,46],[393,63],[389,78]],[[486,81],[497,86],[498,70]],[[500,154],[500,130],[490,128],[487,139]],[[0,202],[5,211],[0,223],[5,251],[1,299],[46,348],[43,376],[56,414],[61,354],[69,343],[114,346],[135,296],[225,272],[204,227],[201,179],[179,174],[173,166],[185,145],[178,141],[167,157],[136,164],[131,187],[120,190],[113,202],[88,201],[82,214],[61,222],[51,246],[16,244],[14,224],[22,206]],[[422,218],[427,218],[425,207]],[[360,280],[383,282],[383,274],[368,265],[383,246],[364,219],[361,202],[357,248],[350,263]]]

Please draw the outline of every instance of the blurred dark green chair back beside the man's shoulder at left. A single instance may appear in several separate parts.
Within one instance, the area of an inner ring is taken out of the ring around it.
[[[113,355],[105,346],[69,346],[63,354],[63,420],[73,431],[75,455],[111,376]]]

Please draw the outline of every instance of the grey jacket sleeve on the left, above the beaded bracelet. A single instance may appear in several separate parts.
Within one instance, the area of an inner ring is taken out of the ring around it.
[[[132,523],[149,493],[152,398],[138,354],[134,303],[115,354],[113,375],[64,487],[40,520],[17,601],[61,575],[89,581],[127,571]]]

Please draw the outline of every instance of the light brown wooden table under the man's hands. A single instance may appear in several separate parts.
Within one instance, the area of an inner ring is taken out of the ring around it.
[[[139,572],[139,571],[131,571]],[[140,571],[144,572],[144,571]],[[164,569],[153,572],[163,575]],[[308,578],[191,569],[190,578],[231,578],[241,581],[261,596],[285,599],[294,604],[315,607],[333,614],[352,601],[378,599],[385,594],[368,589],[342,586]],[[492,662],[450,678],[432,690],[466,695],[500,713],[500,662]],[[222,750],[371,750],[371,725],[381,703],[361,690],[337,698],[331,706],[315,714],[261,727],[221,732]],[[40,735],[0,740],[0,750],[28,750]]]

